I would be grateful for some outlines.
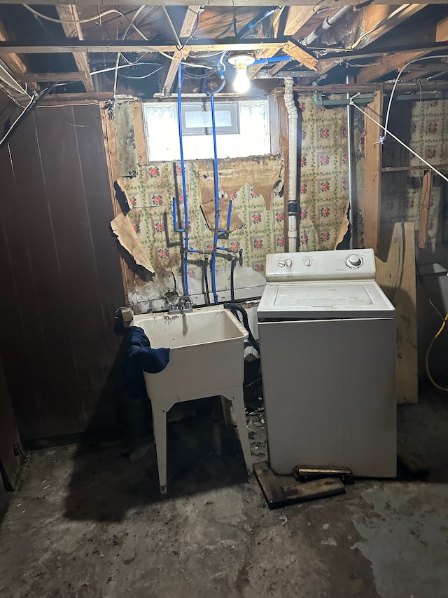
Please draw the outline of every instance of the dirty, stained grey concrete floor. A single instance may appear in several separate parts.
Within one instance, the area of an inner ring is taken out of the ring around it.
[[[447,598],[448,397],[427,389],[398,419],[425,482],[271,511],[232,432],[216,454],[208,415],[170,424],[167,498],[154,448],[36,451],[1,526],[0,597]],[[257,416],[251,429],[262,461]]]

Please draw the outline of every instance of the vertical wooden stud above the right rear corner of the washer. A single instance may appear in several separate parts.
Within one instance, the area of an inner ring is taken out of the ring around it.
[[[365,107],[366,113],[378,123],[383,118],[383,93],[374,92],[374,100]],[[378,142],[382,130],[367,116],[365,125],[365,170],[364,170],[364,243],[365,247],[373,247],[375,252],[379,246],[379,229],[381,219],[381,157],[382,144]]]

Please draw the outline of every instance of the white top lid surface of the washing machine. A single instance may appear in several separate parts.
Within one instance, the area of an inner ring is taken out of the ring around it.
[[[258,318],[393,317],[395,308],[372,280],[268,284]]]

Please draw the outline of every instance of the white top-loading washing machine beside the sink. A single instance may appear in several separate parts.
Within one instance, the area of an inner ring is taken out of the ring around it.
[[[258,332],[269,465],[395,477],[395,308],[373,250],[269,254]]]

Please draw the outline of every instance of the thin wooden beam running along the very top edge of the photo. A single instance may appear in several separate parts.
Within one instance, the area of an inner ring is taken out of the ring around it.
[[[165,6],[189,6],[191,0],[164,0]],[[23,4],[23,0],[0,0],[0,4]],[[39,0],[39,5],[52,4],[60,6],[66,4],[64,0]],[[160,0],[144,0],[139,4],[146,6],[160,6]],[[282,0],[282,6],[295,6],[298,4],[297,0]],[[358,6],[360,0],[344,0],[344,4],[349,6]],[[373,4],[397,4],[397,0],[374,0]],[[428,4],[428,0],[419,0],[416,4]],[[446,0],[432,0],[430,4],[446,4]],[[101,6],[115,6],[116,0],[102,0]],[[301,6],[316,6],[316,0],[300,0]],[[92,6],[92,0],[77,0],[76,6]],[[120,6],[136,6],[135,0],[122,0]],[[244,6],[246,8],[254,6],[266,6],[265,0],[208,0],[207,6]],[[318,3],[318,8],[340,8],[341,2],[339,0],[321,0]]]

